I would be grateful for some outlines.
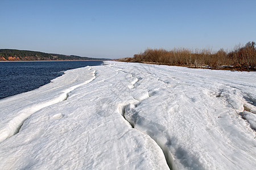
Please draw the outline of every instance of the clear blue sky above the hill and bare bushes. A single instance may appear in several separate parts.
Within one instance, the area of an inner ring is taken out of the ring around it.
[[[256,41],[256,1],[0,0],[0,48],[132,57]]]

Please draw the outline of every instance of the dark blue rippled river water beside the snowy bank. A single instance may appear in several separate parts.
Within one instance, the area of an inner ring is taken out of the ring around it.
[[[103,61],[0,62],[0,99],[39,88],[65,70],[102,64]]]

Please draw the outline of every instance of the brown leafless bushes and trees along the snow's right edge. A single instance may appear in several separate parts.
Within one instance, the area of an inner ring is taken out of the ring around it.
[[[146,49],[135,54],[133,58],[122,58],[118,61],[158,63],[172,66],[210,67],[212,69],[256,70],[255,42],[247,42],[245,46],[236,46],[232,51],[220,49],[189,50],[185,48],[164,50]]]

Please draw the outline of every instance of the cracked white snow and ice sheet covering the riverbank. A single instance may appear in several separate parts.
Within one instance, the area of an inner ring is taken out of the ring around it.
[[[0,100],[2,169],[255,169],[254,72],[105,63]]]

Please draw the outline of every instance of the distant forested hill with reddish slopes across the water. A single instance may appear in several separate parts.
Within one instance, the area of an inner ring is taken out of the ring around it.
[[[67,56],[63,54],[49,54],[28,50],[0,49],[0,61],[69,61],[69,60],[111,60],[108,58],[89,58]]]

